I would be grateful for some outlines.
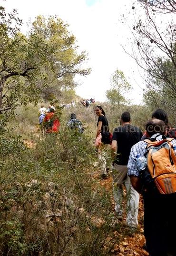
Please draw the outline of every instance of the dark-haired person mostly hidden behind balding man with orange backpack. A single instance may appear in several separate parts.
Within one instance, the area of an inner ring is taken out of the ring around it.
[[[176,128],[170,128],[168,126],[169,120],[168,120],[168,115],[167,115],[165,110],[163,110],[161,108],[156,109],[152,114],[152,118],[160,119],[165,123],[165,125],[166,125],[166,137],[176,138]],[[145,138],[147,138],[146,132],[142,136],[141,140],[143,140]]]

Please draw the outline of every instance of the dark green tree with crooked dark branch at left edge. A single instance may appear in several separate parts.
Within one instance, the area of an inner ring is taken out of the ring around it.
[[[17,17],[16,10],[7,14],[0,7],[0,113],[13,108],[13,99],[16,98],[16,102],[19,100],[22,84],[37,69],[37,63],[31,61],[34,49],[19,32],[21,24],[22,20]],[[38,58],[39,54],[36,54]]]

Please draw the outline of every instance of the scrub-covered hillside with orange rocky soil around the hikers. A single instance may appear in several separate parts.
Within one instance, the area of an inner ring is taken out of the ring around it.
[[[104,108],[112,130],[125,106],[118,113],[114,110],[114,116],[108,105]],[[61,112],[59,134],[43,137],[38,107],[19,108],[0,139],[1,254],[147,255],[141,249],[142,203],[140,226],[133,234],[125,216],[117,223],[111,178],[101,180],[94,107]],[[84,123],[81,136],[65,128],[72,112]],[[110,167],[109,149],[107,154]]]

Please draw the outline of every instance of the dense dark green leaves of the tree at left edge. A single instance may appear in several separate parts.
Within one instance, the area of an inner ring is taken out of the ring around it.
[[[0,21],[0,111],[3,112],[19,103],[26,105],[38,100],[37,84],[43,77],[40,67],[45,63],[42,52],[46,44],[39,37],[27,38],[19,32],[22,21],[15,10],[6,14],[1,7]]]

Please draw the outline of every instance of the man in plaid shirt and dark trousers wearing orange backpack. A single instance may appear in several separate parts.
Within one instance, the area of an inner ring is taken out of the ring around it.
[[[127,165],[128,176],[131,179],[132,186],[143,195],[144,235],[146,237],[146,245],[149,255],[176,256],[176,242],[174,235],[176,232],[176,188],[172,191],[173,184],[171,183],[171,179],[163,178],[164,176],[162,174],[162,177],[161,175],[158,175],[158,170],[159,172],[162,171],[165,175],[165,173],[169,173],[169,168],[175,168],[176,157],[174,152],[171,152],[173,149],[168,146],[166,140],[163,140],[164,138],[166,139],[166,137],[163,137],[166,131],[166,125],[162,120],[150,119],[146,124],[146,131],[147,137],[150,139],[147,139],[147,141],[140,141],[131,148]],[[169,140],[171,139],[169,138]],[[153,148],[149,147],[150,143],[157,143],[157,141],[159,141],[160,144],[156,145],[157,149],[156,146],[153,146]],[[169,143],[171,143],[172,146],[176,146],[176,139],[173,139]],[[146,162],[146,167],[144,165],[144,169],[142,166],[141,171],[139,171],[139,166],[137,168],[137,159],[145,159],[144,157],[148,152],[148,147],[151,149],[149,154],[147,154],[147,159],[146,161],[143,160],[141,162],[141,164]],[[170,153],[168,153],[168,151],[170,151]],[[158,165],[160,165],[159,168]],[[155,173],[158,175],[156,177],[161,178],[160,182],[165,181],[165,187],[163,189],[175,193],[161,194],[161,191],[158,188],[158,185],[160,184],[159,180],[157,180],[156,183],[154,181],[155,179],[152,178],[152,175],[154,176]],[[176,175],[175,170],[172,175]]]

